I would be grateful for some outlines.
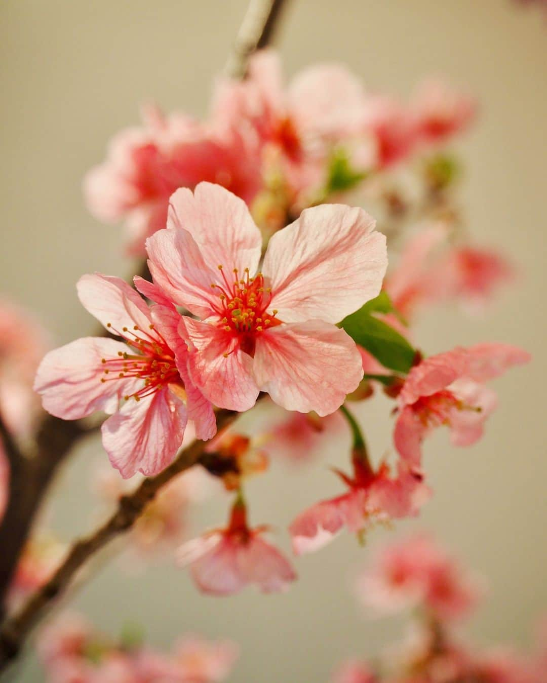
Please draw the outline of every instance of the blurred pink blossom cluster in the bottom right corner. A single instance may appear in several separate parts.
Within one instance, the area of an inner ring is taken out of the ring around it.
[[[429,535],[402,538],[381,548],[356,582],[367,611],[394,614],[413,609],[406,638],[389,657],[352,658],[335,671],[333,683],[542,683],[547,677],[544,628],[536,652],[509,647],[477,650],[455,634],[483,592],[471,576]]]

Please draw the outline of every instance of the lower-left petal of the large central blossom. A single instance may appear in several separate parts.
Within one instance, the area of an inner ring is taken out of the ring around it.
[[[238,339],[214,324],[187,316],[180,325],[181,334],[195,349],[188,367],[201,393],[219,408],[241,412],[252,408],[260,390],[251,372],[253,359],[239,350]]]

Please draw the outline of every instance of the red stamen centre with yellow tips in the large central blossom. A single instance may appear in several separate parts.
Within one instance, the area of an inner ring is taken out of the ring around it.
[[[272,301],[272,290],[270,287],[264,288],[262,273],[250,277],[249,268],[245,268],[242,278],[238,276],[238,269],[234,268],[232,281],[227,278],[223,266],[219,266],[219,270],[224,285],[211,285],[219,292],[220,302],[216,312],[225,331],[238,335],[241,348],[250,352],[255,335],[281,324],[281,320],[275,317],[277,311],[273,309],[268,313],[267,310]]]

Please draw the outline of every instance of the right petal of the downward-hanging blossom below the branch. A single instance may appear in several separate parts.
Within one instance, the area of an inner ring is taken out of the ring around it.
[[[263,593],[284,591],[296,579],[290,562],[260,535],[238,550],[238,568],[245,581],[256,583]]]

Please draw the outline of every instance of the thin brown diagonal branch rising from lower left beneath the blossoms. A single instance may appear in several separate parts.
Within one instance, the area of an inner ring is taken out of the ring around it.
[[[216,413],[216,424],[219,430],[229,426],[237,416],[238,413],[232,410],[219,410]],[[51,607],[54,598],[68,589],[74,575],[82,566],[117,536],[128,531],[158,491],[173,477],[196,464],[205,448],[206,443],[204,441],[194,441],[182,449],[176,460],[165,470],[155,477],[144,479],[134,492],[122,496],[116,512],[107,522],[104,522],[93,533],[72,544],[68,555],[51,579],[29,598],[20,611],[12,617],[8,617],[2,624],[0,628],[0,672],[16,656],[31,628]]]

